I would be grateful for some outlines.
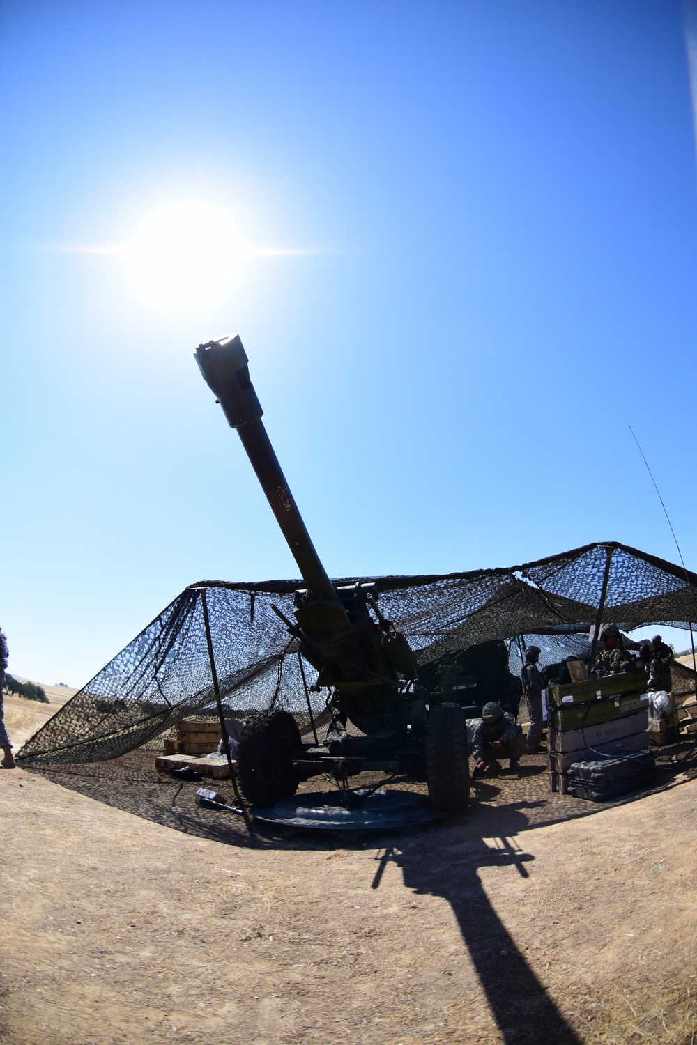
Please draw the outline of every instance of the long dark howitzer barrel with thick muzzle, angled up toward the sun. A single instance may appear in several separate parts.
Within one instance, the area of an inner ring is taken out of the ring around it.
[[[231,334],[199,345],[194,358],[204,380],[223,407],[230,426],[237,429],[303,581],[323,599],[343,609],[271,445],[239,335]]]

